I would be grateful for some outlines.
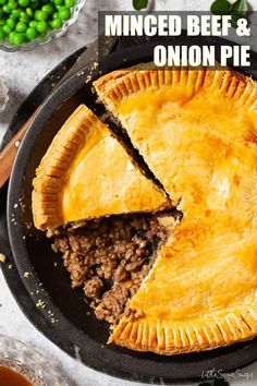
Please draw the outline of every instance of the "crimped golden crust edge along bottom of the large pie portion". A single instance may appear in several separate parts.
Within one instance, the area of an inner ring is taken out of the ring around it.
[[[135,351],[152,351],[162,355],[208,351],[256,336],[256,307],[231,310],[231,317],[220,313],[203,322],[186,325],[157,321],[127,321],[122,318],[109,343]]]

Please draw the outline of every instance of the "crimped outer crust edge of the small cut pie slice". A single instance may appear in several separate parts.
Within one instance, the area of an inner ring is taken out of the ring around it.
[[[62,177],[78,147],[84,131],[94,123],[94,117],[88,111],[84,106],[79,106],[74,111],[53,138],[36,170],[36,178],[33,180],[32,208],[34,224],[38,229],[56,228],[62,222],[59,208]],[[48,205],[49,194],[51,204]]]

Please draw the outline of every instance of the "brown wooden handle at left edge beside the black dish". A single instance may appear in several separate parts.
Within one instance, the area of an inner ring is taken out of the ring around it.
[[[8,181],[11,176],[14,159],[17,153],[19,141],[24,137],[35,113],[24,123],[14,137],[9,142],[4,149],[0,153],[0,189]]]

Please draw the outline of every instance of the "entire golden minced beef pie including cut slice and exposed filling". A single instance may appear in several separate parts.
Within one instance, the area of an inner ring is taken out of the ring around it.
[[[110,341],[133,350],[254,338],[256,83],[230,70],[132,69],[95,88],[156,180],[90,110],[64,124],[37,169],[33,212],[56,233],[72,286],[112,323]]]

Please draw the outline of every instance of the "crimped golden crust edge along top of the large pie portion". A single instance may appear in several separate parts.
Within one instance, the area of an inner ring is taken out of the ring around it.
[[[256,82],[232,70],[120,70],[101,76],[94,86],[107,106],[115,106],[124,97],[137,94],[149,87],[185,86],[189,95],[200,88],[220,89],[234,100],[242,98],[247,106],[256,102]],[[183,93],[183,88],[181,88]],[[115,111],[113,111],[115,112]]]

